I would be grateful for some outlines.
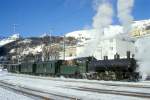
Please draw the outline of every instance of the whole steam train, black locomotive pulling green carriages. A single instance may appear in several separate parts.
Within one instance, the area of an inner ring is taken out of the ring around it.
[[[86,78],[95,80],[127,80],[138,81],[136,60],[130,57],[121,59],[119,54],[114,59],[96,60],[94,57],[81,57],[73,60],[53,60],[40,62],[22,62],[7,64],[8,72],[43,75],[53,77]]]

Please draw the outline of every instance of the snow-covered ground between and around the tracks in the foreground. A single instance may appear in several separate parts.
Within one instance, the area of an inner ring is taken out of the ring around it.
[[[139,97],[129,97],[114,94],[104,94],[92,91],[82,91],[82,88],[92,88],[92,89],[105,89],[105,90],[120,90],[120,91],[130,91],[139,93],[150,93],[149,88],[137,88],[122,86],[150,86],[150,82],[113,82],[113,81],[96,81],[96,80],[81,80],[81,79],[65,79],[65,78],[48,78],[48,77],[37,77],[29,75],[16,75],[10,74],[5,71],[0,71],[0,81],[8,82],[16,86],[28,87],[36,90],[42,90],[49,93],[61,94],[64,96],[77,97],[82,100],[149,100],[146,98]],[[103,84],[101,84],[103,83]],[[111,86],[106,84],[117,84],[120,86]],[[4,96],[2,100],[23,100],[20,99],[20,95],[14,95],[14,97],[5,98],[10,95],[9,92],[3,92],[4,90],[0,88],[0,96]],[[5,90],[6,91],[6,90]],[[25,100],[30,100],[27,98]]]

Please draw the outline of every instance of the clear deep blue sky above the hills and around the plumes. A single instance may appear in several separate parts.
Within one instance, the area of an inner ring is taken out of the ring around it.
[[[116,12],[117,0],[110,1]],[[149,19],[149,10],[150,0],[135,0],[135,20]],[[22,36],[62,35],[91,27],[94,14],[93,0],[0,0],[0,36],[11,35],[13,24]]]

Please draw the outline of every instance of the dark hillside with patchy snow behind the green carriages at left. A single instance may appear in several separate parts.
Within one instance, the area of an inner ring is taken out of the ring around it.
[[[73,45],[76,43],[74,38],[65,38],[65,44]],[[19,35],[15,34],[9,38],[0,41],[0,60],[15,60],[18,59],[41,60],[43,53],[48,52],[56,53],[63,49],[64,38],[60,36],[48,36],[43,37],[29,37],[19,38]],[[59,56],[59,55],[58,55]]]

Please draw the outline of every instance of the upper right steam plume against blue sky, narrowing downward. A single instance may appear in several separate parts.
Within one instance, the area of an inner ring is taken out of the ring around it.
[[[134,6],[134,0],[118,0],[117,10],[120,23],[124,27],[124,32],[128,33],[131,29],[131,23],[133,21],[132,8]]]

